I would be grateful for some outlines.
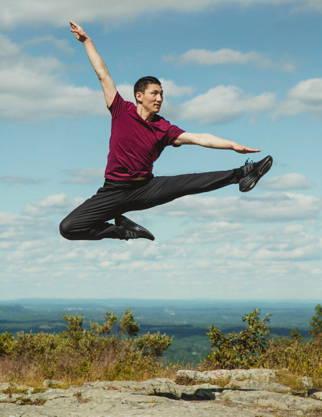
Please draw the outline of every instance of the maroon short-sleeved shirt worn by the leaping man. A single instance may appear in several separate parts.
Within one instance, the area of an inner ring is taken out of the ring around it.
[[[173,142],[185,131],[158,114],[151,122],[144,120],[136,106],[123,100],[118,92],[108,109],[112,126],[105,177],[118,181],[152,178],[153,162],[166,146],[180,146]]]

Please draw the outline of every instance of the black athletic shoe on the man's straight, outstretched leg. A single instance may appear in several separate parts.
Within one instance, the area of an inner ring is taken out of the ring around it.
[[[244,166],[240,167],[241,178],[239,182],[239,191],[246,193],[252,190],[260,178],[268,172],[273,163],[273,158],[268,155],[259,162],[245,162]]]

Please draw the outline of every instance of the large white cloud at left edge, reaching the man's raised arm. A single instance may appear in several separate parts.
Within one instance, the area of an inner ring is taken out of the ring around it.
[[[101,91],[61,80],[65,68],[58,59],[30,56],[6,37],[2,47],[10,54],[0,60],[1,119],[30,122],[108,113]]]

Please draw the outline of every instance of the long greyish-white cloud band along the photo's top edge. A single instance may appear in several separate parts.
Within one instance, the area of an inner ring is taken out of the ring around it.
[[[105,27],[118,27],[121,23],[132,21],[138,16],[161,11],[179,11],[195,13],[209,9],[209,7],[235,4],[252,6],[254,4],[268,4],[278,6],[290,4],[303,6],[304,9],[322,11],[320,0],[2,0],[0,25],[5,29],[12,29],[18,25],[53,25],[66,26],[69,19],[83,25],[100,22]],[[302,9],[303,9],[302,7]]]

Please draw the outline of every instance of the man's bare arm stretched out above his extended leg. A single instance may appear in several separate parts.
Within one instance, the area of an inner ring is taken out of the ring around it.
[[[250,154],[253,152],[261,152],[260,149],[247,148],[247,146],[239,145],[236,142],[227,141],[218,138],[210,133],[181,133],[173,142],[174,145],[200,145],[213,149],[229,149],[239,154]]]

